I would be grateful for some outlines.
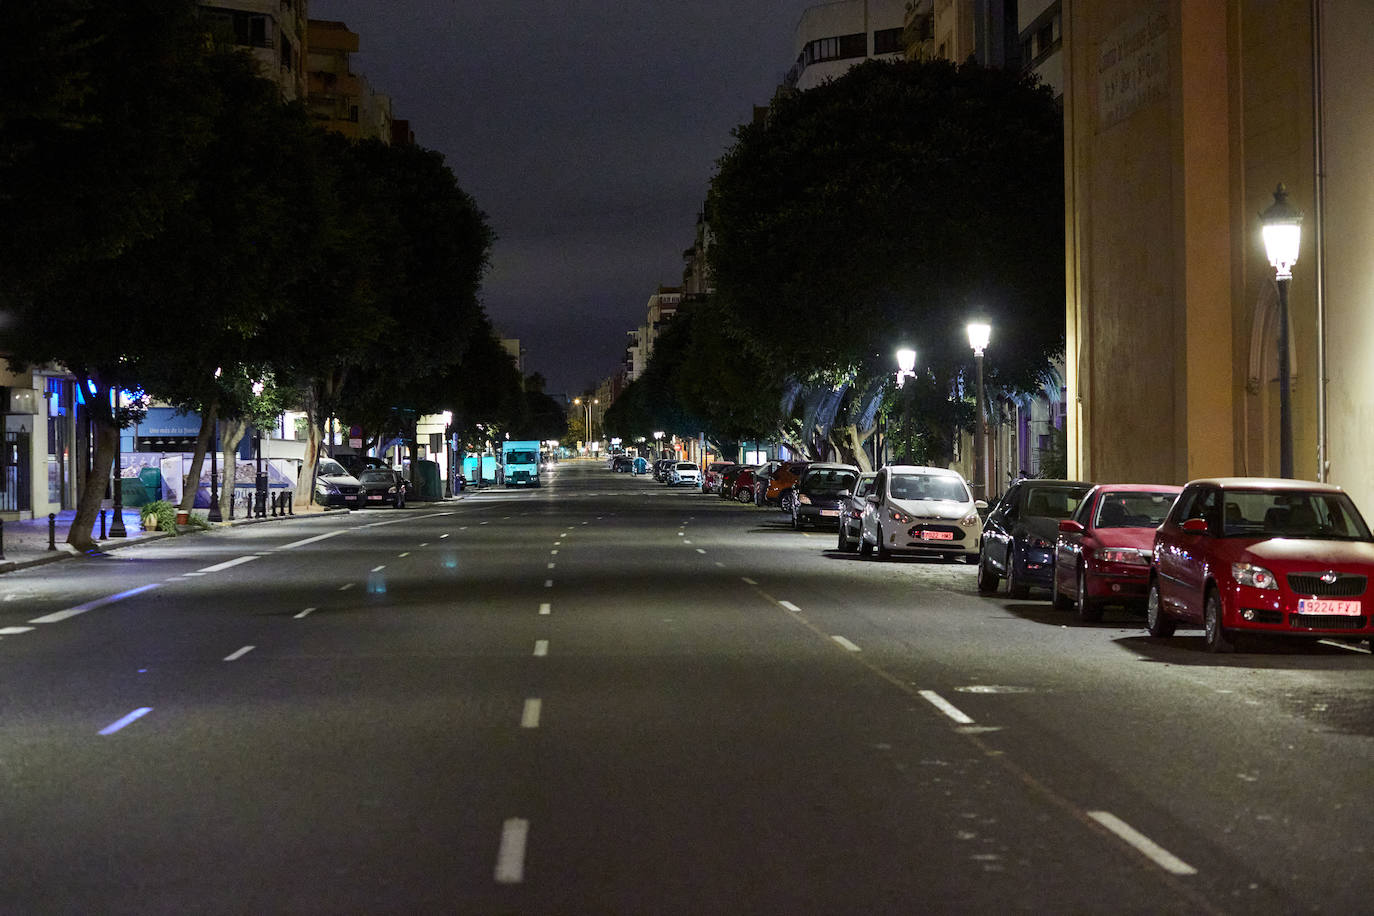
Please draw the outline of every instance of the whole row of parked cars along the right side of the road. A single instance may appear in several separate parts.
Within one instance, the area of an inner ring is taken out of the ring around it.
[[[1116,604],[1143,608],[1156,637],[1202,628],[1215,652],[1243,633],[1363,639],[1374,651],[1374,534],[1330,483],[1024,479],[989,511],[948,468],[769,461],[710,464],[701,488],[776,500],[796,529],[835,526],[840,552],[976,563],[980,592],[1003,580],[1015,599],[1040,589],[1084,622]]]

